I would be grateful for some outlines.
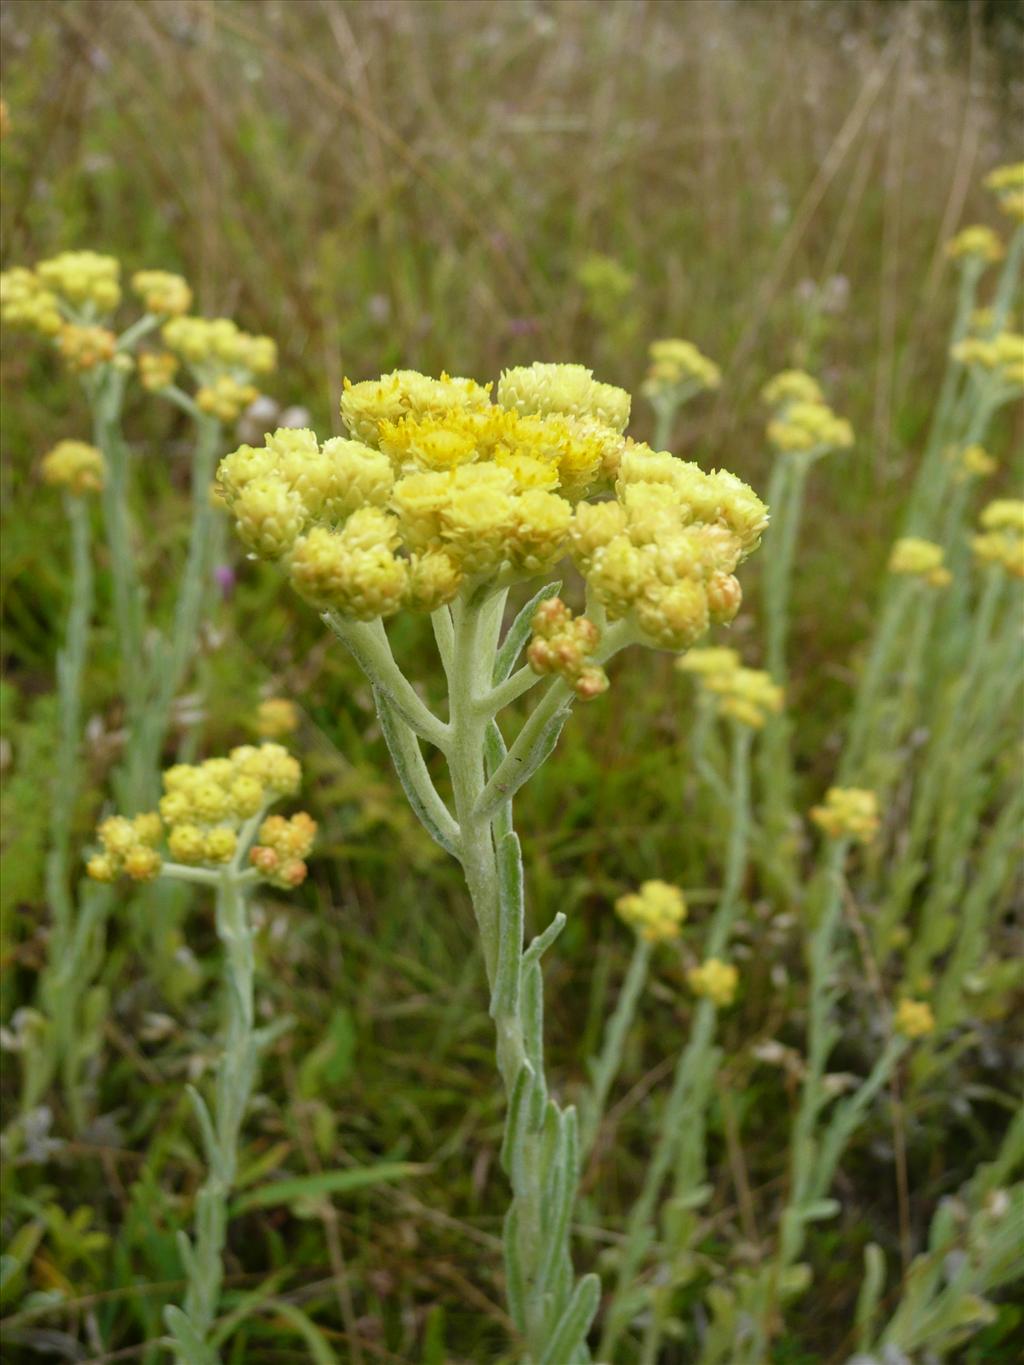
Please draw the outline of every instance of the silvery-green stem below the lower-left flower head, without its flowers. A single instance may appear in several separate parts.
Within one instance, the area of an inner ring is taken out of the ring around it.
[[[240,848],[243,844],[240,842]],[[239,1137],[257,1074],[258,1039],[254,1028],[253,928],[246,901],[246,879],[236,864],[217,875],[217,936],[224,950],[227,1026],[217,1062],[213,1112],[198,1091],[191,1092],[206,1156],[206,1179],[195,1200],[191,1239],[179,1234],[187,1289],[184,1304],[168,1308],[165,1320],[183,1365],[216,1360],[209,1335],[217,1317],[224,1280],[224,1244],[228,1200],[238,1174]]]

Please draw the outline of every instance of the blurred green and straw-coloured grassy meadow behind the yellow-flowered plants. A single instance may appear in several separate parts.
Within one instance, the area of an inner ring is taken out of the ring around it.
[[[724,384],[687,408],[676,449],[763,489],[758,389],[786,364],[818,373],[857,444],[815,476],[795,584],[791,700],[810,803],[833,770],[945,363],[943,243],[991,220],[982,175],[1021,156],[1023,19],[1016,0],[7,0],[0,255],[10,268],[91,247],[127,272],[182,270],[203,313],[277,339],[268,388],[283,407],[307,408],[321,434],[340,429],[343,375],[403,364],[489,379],[508,364],[572,359],[636,392],[647,341],[687,336]],[[55,440],[83,435],[86,418],[41,347],[5,336],[0,366],[10,1018],[45,954],[51,692],[66,610],[63,516],[34,470]],[[1020,437],[1012,420],[994,442],[1004,453]],[[127,425],[158,598],[184,526],[182,427],[142,399]],[[650,435],[642,403],[632,431]],[[326,1324],[341,1360],[485,1361],[489,1320],[501,1338],[501,1115],[457,874],[406,811],[355,667],[273,573],[244,560],[235,569],[205,637],[203,748],[246,738],[261,695],[296,696],[298,752],[325,830],[303,895],[264,906],[266,1009],[300,1022],[265,1067],[250,1179],[385,1158],[425,1170],[384,1193],[238,1218],[229,1283],[246,1289],[277,1267],[280,1291]],[[730,643],[750,642],[755,663],[752,569]],[[410,657],[426,643],[406,621],[399,640]],[[119,743],[112,637],[98,631],[94,648],[83,841]],[[556,908],[573,910],[549,969],[554,1072],[568,1092],[628,947],[610,900],[661,875],[699,906],[721,876],[721,831],[684,805],[680,680],[646,657],[620,665],[613,684],[519,801],[531,915],[542,925]],[[778,1178],[788,1111],[777,1091],[762,1096],[751,1048],[785,1037],[800,986],[785,915],[755,930],[774,958],[751,964],[726,1043],[756,1201]],[[46,1110],[35,1145],[5,1168],[5,1235],[26,1219],[38,1227],[31,1272],[0,1301],[5,1360],[158,1358],[143,1343],[160,1336],[180,1276],[173,1233],[201,1166],[182,1081],[213,1052],[213,942],[202,905],[113,928],[91,1129],[72,1140]],[[679,996],[670,976],[654,987],[632,1044],[612,1205],[628,1204],[651,1069],[685,1028]],[[990,1152],[1001,1114],[990,1092],[997,1078],[1006,1088],[1012,1055],[1004,1029],[971,1054],[964,1089],[908,1115],[915,1228]],[[8,1114],[15,1063],[4,1058]],[[726,1134],[715,1140],[728,1218]],[[827,1242],[842,1238],[848,1268],[870,1237],[896,1235],[892,1144],[881,1130],[853,1153],[844,1226],[818,1234],[826,1269],[780,1362],[849,1354],[842,1324],[857,1283],[838,1263],[829,1276]],[[591,1183],[610,1177],[606,1155]],[[71,1304],[59,1330],[33,1316],[31,1293]],[[362,1346],[343,1325],[345,1293]],[[1004,1319],[965,1358],[1012,1360],[1017,1324]],[[236,1360],[309,1358],[272,1320],[235,1342]]]

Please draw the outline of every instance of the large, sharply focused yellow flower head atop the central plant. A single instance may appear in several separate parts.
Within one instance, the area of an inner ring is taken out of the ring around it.
[[[624,438],[628,394],[582,366],[508,371],[498,400],[407,370],[347,384],[351,438],[279,430],[221,461],[218,491],[251,550],[356,620],[430,612],[466,579],[530,577],[567,553],[612,620],[632,614],[666,648],[732,620],[733,571],[767,524],[747,485]],[[584,501],[612,479],[614,501]]]

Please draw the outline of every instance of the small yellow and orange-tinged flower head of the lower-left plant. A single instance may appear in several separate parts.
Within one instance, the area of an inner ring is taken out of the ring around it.
[[[102,852],[89,860],[89,875],[98,882],[112,882],[122,874],[150,880],[162,867],[157,845],[164,834],[173,861],[190,867],[224,867],[239,853],[243,826],[281,797],[294,796],[300,779],[298,760],[280,744],[258,748],[244,744],[232,749],[228,758],[176,763],[164,773],[158,812],[134,819],[112,815],[102,822],[97,831]],[[291,820],[273,819],[294,833],[281,837],[280,826],[265,820],[261,844],[268,845],[273,859],[261,854],[262,861],[253,859],[253,865],[266,880],[298,886],[306,875],[303,859],[313,845],[315,824],[304,812]],[[272,837],[265,839],[268,824]]]

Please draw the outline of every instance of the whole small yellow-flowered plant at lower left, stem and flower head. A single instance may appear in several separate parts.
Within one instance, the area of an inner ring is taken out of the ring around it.
[[[187,882],[213,891],[216,927],[224,953],[227,1024],[217,1062],[213,1106],[199,1092],[190,1097],[202,1134],[208,1174],[195,1201],[195,1233],[180,1234],[187,1289],[180,1308],[167,1309],[167,1325],[187,1365],[216,1360],[209,1338],[224,1278],[223,1252],[228,1200],[238,1175],[239,1137],[261,1051],[276,1037],[280,1021],[255,1026],[253,889],[268,883],[299,886],[306,876],[317,833],[299,811],[268,815],[294,796],[302,781],[296,759],[279,744],[242,745],[227,758],[177,763],[164,773],[158,811],[111,815],[98,827],[100,850],[87,861],[89,876]]]

